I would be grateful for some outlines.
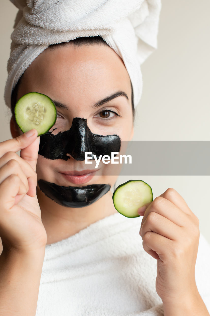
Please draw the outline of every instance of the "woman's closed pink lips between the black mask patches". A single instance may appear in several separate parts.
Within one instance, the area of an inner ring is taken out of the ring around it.
[[[63,171],[60,174],[69,182],[73,184],[83,184],[87,183],[91,179],[93,179],[96,171],[98,170],[82,170],[82,171]]]

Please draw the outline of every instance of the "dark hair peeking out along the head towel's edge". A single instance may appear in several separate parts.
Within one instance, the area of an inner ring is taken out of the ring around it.
[[[72,43],[74,46],[76,47],[81,47],[81,46],[90,46],[90,45],[108,45],[105,40],[102,39],[102,37],[98,36],[88,36],[88,37],[78,37],[75,40],[70,40],[68,42],[62,42],[62,43],[58,43],[58,44],[51,44],[48,46],[48,48],[50,50],[53,50],[55,47],[57,46],[67,46],[68,43]],[[23,76],[23,75],[22,75]],[[17,102],[17,93],[18,93],[18,89],[21,83],[21,79],[22,76],[20,77],[20,79],[18,80],[14,90],[12,91],[12,95],[11,95],[11,112],[12,115],[14,116],[14,106]],[[133,86],[131,83],[131,105],[132,105],[132,112],[133,112],[133,120],[134,120],[134,116],[135,116],[135,109],[134,109],[134,102],[133,102]]]

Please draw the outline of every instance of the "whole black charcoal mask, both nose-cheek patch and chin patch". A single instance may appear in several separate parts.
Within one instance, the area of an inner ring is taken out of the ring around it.
[[[109,155],[119,152],[121,140],[117,135],[97,135],[90,131],[87,119],[74,118],[70,130],[53,135],[48,132],[40,136],[39,155],[48,159],[63,159],[67,161],[70,154],[75,160],[84,161],[85,153],[92,152],[99,155]],[[90,155],[89,155],[90,156]],[[96,202],[106,194],[111,186],[108,184],[92,184],[82,187],[61,186],[45,180],[38,180],[43,193],[56,203],[79,208]]]

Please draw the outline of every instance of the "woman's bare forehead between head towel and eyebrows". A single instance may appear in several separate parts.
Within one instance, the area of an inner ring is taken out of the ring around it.
[[[48,48],[26,69],[21,86],[21,94],[36,91],[65,103],[69,98],[94,103],[119,90],[131,94],[122,59],[105,45]]]

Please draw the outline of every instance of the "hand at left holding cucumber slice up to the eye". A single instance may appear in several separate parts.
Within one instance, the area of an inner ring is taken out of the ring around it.
[[[0,237],[3,250],[30,252],[45,247],[47,234],[38,204],[35,129],[0,143]],[[16,154],[20,150],[20,157]]]

